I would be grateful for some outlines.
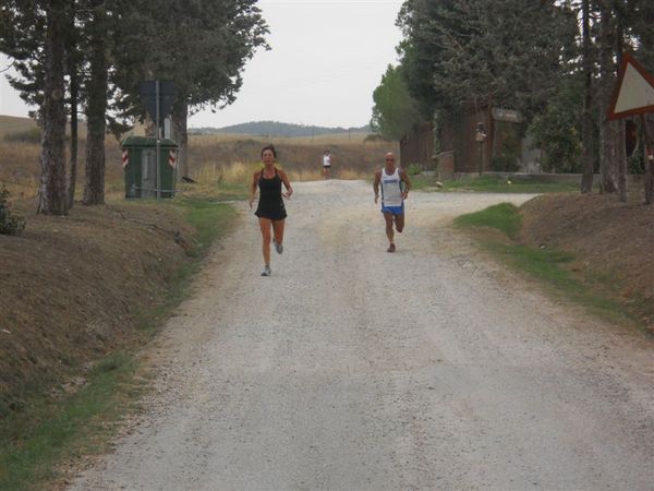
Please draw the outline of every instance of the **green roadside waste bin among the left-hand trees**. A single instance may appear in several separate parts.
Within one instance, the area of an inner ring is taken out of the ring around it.
[[[128,136],[121,142],[125,177],[125,197],[157,197],[157,139]],[[174,196],[179,145],[169,139],[159,140],[159,177],[161,197]]]

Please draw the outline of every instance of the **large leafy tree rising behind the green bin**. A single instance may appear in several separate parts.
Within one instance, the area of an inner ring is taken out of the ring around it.
[[[268,32],[255,0],[123,0],[117,25],[118,105],[123,116],[143,117],[138,85],[144,80],[171,80],[177,88],[172,108],[173,137],[180,144],[181,176],[190,115],[235,100],[242,70],[257,47],[267,47]]]

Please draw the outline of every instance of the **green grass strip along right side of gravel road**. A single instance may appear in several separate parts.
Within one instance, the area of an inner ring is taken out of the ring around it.
[[[537,279],[547,291],[586,308],[591,313],[617,322],[632,322],[619,300],[596,278],[584,278],[570,266],[576,255],[555,249],[536,249],[516,242],[521,227],[520,211],[509,203],[461,215],[455,226],[469,230],[480,246],[506,264]],[[488,231],[497,230],[500,233]]]

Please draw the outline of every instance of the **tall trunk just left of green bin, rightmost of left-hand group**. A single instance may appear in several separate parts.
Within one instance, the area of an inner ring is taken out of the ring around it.
[[[86,182],[84,204],[105,203],[105,134],[107,112],[107,12],[96,7],[90,25],[90,79],[86,111]]]

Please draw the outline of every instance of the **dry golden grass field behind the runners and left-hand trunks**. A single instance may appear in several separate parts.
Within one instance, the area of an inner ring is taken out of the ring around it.
[[[0,117],[0,185],[14,196],[31,197],[38,191],[40,144],[34,137],[38,128],[27,118]],[[25,136],[24,139],[22,136]],[[314,137],[252,135],[191,135],[189,164],[191,177],[203,188],[220,183],[246,184],[261,165],[261,148],[272,143],[279,165],[295,181],[322,179],[322,156],[329,148],[332,177],[361,179],[370,177],[383,164],[386,152],[399,152],[391,142],[366,142],[364,133],[342,133]],[[106,140],[107,194],[123,193],[120,143],[111,135]],[[84,179],[85,141],[80,140],[77,182]],[[81,193],[82,185],[77,187]]]

